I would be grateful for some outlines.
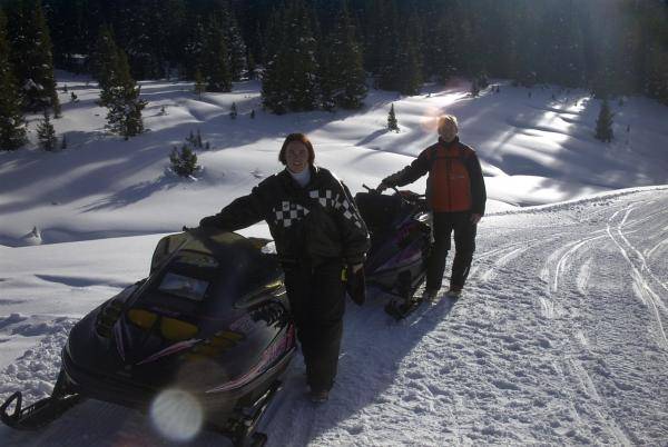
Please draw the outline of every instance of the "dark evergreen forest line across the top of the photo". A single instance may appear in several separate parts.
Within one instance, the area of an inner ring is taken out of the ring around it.
[[[58,113],[52,64],[39,60],[104,78],[105,36],[129,79],[194,80],[202,92],[259,76],[276,113],[358,108],[370,77],[404,95],[424,81],[495,77],[668,105],[660,0],[4,0],[2,9],[0,82],[20,97],[0,100],[3,117],[17,103]]]

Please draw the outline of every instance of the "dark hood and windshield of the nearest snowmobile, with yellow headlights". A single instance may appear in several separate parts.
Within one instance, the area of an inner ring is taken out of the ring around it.
[[[72,328],[70,364],[150,386],[185,370],[209,387],[244,375],[289,326],[282,271],[264,244],[222,231],[164,238],[144,282]]]

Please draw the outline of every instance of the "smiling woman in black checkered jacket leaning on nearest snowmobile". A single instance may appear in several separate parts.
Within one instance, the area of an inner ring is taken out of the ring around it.
[[[362,269],[370,238],[348,189],[314,159],[306,136],[291,133],[278,155],[286,168],[199,225],[234,231],[266,220],[285,271],[311,398],[324,401],[343,334],[342,270]]]

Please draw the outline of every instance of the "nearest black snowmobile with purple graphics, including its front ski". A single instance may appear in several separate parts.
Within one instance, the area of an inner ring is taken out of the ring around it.
[[[94,398],[147,410],[165,389],[194,396],[205,424],[237,446],[261,446],[256,431],[295,354],[295,329],[276,256],[267,239],[193,229],[163,238],[148,278],[84,317],[62,349],[50,397],[0,417],[38,429]]]

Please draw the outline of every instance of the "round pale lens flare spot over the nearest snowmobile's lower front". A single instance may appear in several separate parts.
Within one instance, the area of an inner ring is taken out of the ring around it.
[[[204,411],[199,401],[181,389],[160,393],[150,405],[154,427],[173,441],[188,441],[199,433]]]

